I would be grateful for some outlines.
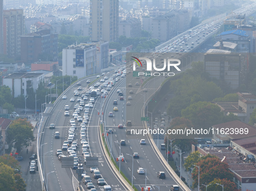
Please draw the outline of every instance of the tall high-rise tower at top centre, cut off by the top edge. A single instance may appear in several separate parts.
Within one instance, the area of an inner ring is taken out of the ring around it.
[[[118,0],[90,0],[91,41],[117,41]]]

